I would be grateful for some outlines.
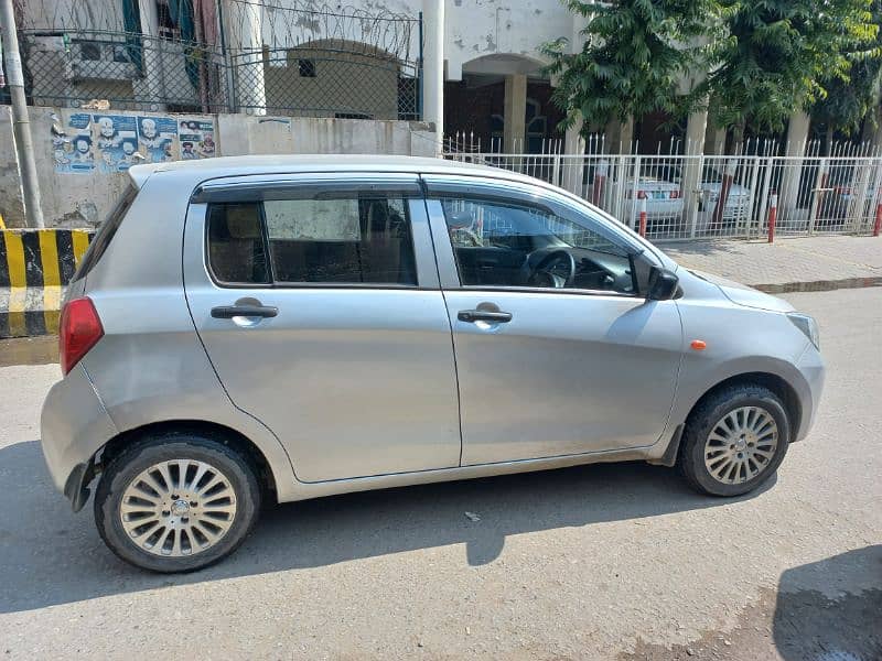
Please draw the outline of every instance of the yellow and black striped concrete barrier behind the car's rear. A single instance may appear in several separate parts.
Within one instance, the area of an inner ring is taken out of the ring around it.
[[[3,229],[0,235],[0,337],[57,333],[62,292],[93,230]]]

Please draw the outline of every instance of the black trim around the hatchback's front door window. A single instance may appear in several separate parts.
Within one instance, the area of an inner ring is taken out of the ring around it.
[[[524,205],[524,206],[533,207],[535,209],[542,210],[542,212],[548,213],[548,214],[553,214],[555,216],[558,216],[558,217],[562,218],[563,220],[567,220],[569,223],[573,223],[573,220],[571,220],[570,218],[567,218],[566,216],[562,216],[557,210],[555,210],[551,206],[544,204],[544,202],[546,199],[545,197],[537,198],[535,196],[529,195],[526,192],[523,192],[521,195],[504,196],[502,194],[502,192],[493,194],[492,189],[481,191],[480,193],[471,193],[467,189],[469,186],[463,186],[463,187],[460,188],[460,191],[455,191],[454,186],[455,186],[455,184],[451,183],[449,185],[449,191],[439,192],[438,189],[435,189],[433,192],[431,189],[431,185],[430,185],[429,194],[426,197],[427,202],[441,203],[442,199],[444,199],[444,198],[447,198],[447,199],[451,199],[451,198],[464,199],[465,198],[465,199],[477,201],[477,202],[481,202],[481,201],[493,202],[493,203],[501,204],[501,205],[506,205],[506,206]],[[488,188],[490,188],[490,186],[488,186]],[[516,188],[513,189],[513,192],[520,193],[520,191],[518,191]],[[583,289],[583,288],[557,288],[557,286],[548,288],[548,286],[521,286],[521,285],[463,284],[462,272],[460,270],[460,263],[456,260],[456,250],[455,250],[455,248],[453,246],[452,239],[450,238],[450,232],[447,231],[448,225],[447,225],[447,214],[444,214],[444,205],[443,204],[439,204],[439,206],[441,208],[441,214],[442,214],[442,218],[440,219],[440,221],[444,224],[444,228],[445,228],[444,234],[448,237],[448,245],[450,246],[451,258],[453,259],[453,271],[454,271],[454,273],[456,275],[456,281],[458,281],[458,286],[455,286],[455,288],[445,288],[445,286],[442,285],[442,289],[447,289],[447,290],[456,289],[456,290],[461,290],[461,291],[476,291],[476,292],[477,291],[481,291],[481,292],[520,292],[520,293],[546,293],[546,294],[558,294],[558,295],[559,294],[579,294],[579,295],[585,295],[585,296],[603,295],[603,296],[615,296],[615,297],[621,297],[621,299],[643,299],[644,297],[644,294],[642,294],[641,291],[639,291],[639,283],[637,281],[635,260],[638,259],[642,254],[644,254],[645,251],[644,250],[639,250],[639,251],[632,250],[631,249],[632,246],[630,243],[626,243],[626,245],[623,246],[620,242],[614,241],[612,238],[610,238],[607,236],[607,232],[605,232],[605,231],[598,231],[595,234],[600,235],[602,238],[609,240],[610,242],[612,242],[612,243],[614,243],[616,246],[620,246],[622,248],[622,250],[625,252],[624,257],[626,257],[628,262],[630,262],[630,266],[631,266],[631,281],[632,281],[632,284],[634,286],[634,291],[631,292],[631,293],[616,292],[616,291],[610,291],[610,290],[591,290],[591,289]],[[570,207],[567,207],[567,208],[570,208]],[[588,229],[590,231],[593,231],[592,227],[585,227],[585,229]],[[609,234],[613,234],[613,232],[609,232]],[[615,238],[617,238],[617,237],[615,237]]]

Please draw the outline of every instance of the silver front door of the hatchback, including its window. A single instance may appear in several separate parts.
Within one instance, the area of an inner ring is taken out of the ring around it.
[[[682,346],[654,258],[546,189],[424,177],[453,325],[463,465],[648,446]]]

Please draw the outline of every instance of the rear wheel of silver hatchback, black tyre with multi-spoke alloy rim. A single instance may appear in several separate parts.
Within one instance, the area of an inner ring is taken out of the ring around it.
[[[95,494],[95,522],[126,562],[151,572],[192,572],[245,541],[260,494],[255,469],[222,438],[168,432],[110,460]]]

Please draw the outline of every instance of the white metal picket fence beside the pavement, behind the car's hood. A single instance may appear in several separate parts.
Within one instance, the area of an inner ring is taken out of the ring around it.
[[[882,156],[717,156],[448,151],[566,188],[653,240],[870,234]]]

